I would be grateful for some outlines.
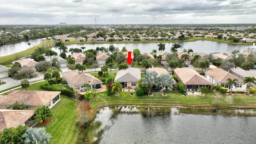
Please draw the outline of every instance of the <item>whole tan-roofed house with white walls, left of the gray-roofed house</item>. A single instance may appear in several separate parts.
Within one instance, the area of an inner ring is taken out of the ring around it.
[[[101,82],[100,79],[90,74],[78,74],[76,71],[66,71],[61,73],[61,76],[68,83],[68,86],[70,86],[73,89],[76,89],[77,91],[86,89],[86,87],[84,87],[85,84],[89,84],[90,89],[102,89],[103,82]]]

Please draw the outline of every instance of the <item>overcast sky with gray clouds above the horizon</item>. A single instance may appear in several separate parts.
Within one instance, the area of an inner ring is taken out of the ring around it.
[[[5,24],[256,23],[256,0],[1,0]]]

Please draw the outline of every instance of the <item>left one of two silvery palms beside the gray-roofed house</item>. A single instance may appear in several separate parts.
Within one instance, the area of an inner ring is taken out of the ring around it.
[[[157,75],[156,71],[148,71],[143,78],[142,86],[148,87],[149,94],[151,94],[152,87],[158,84]]]

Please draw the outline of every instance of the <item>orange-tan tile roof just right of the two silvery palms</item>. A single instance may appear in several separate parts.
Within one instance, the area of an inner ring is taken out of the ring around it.
[[[191,68],[176,68],[174,69],[174,73],[185,85],[213,85],[208,79]]]

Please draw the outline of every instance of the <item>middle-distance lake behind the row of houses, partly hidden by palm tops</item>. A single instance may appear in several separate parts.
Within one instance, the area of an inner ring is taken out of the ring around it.
[[[239,50],[243,52],[246,50],[248,45],[232,45],[228,43],[220,43],[214,41],[194,41],[194,42],[182,42],[180,43],[182,48],[178,49],[178,51],[183,51],[183,49],[193,49],[194,52],[204,52],[204,53],[212,53],[212,52],[225,52],[231,54],[234,50]],[[111,44],[70,44],[67,45],[68,48],[79,48],[82,46],[86,47],[86,50],[95,49],[97,46],[104,46],[108,47]],[[128,51],[133,51],[133,49],[139,49],[141,52],[148,52],[150,53],[154,49],[158,49],[158,43],[126,43],[126,44],[113,44],[115,47],[121,48],[126,46]],[[165,43],[165,51],[170,52],[171,46],[173,43]],[[252,47],[252,46],[251,46]],[[55,49],[53,49],[55,50]],[[55,50],[56,51],[56,50]],[[57,51],[58,52],[58,51]]]

